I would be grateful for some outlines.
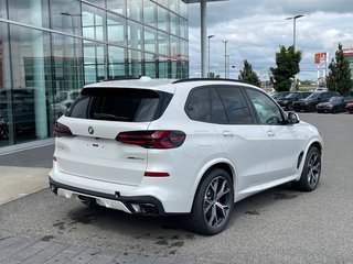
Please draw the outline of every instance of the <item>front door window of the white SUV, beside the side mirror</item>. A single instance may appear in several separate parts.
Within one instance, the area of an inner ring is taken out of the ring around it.
[[[263,124],[284,123],[282,113],[271,99],[255,89],[246,89],[246,91]]]

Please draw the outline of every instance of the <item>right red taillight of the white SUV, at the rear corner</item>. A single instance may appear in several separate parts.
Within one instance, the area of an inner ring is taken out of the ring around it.
[[[185,133],[170,130],[147,130],[121,132],[116,141],[125,144],[140,145],[145,148],[174,148],[185,141]]]

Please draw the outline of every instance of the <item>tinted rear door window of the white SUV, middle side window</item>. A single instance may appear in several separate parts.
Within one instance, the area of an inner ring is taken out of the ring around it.
[[[225,108],[228,122],[233,124],[253,123],[250,110],[239,87],[217,87],[221,100]]]

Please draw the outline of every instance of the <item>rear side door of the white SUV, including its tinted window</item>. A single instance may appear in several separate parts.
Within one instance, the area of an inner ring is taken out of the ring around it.
[[[235,165],[237,194],[263,182],[266,174],[266,134],[255,124],[255,117],[238,86],[211,89],[212,121],[224,156]]]

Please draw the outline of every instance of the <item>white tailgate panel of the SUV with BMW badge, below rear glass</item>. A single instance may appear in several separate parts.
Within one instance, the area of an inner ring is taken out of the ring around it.
[[[147,148],[115,140],[124,131],[147,130],[149,122],[110,122],[62,117],[73,138],[56,139],[58,168],[67,175],[138,186],[147,167]],[[88,132],[88,130],[93,134]]]

